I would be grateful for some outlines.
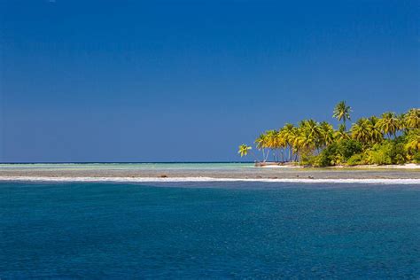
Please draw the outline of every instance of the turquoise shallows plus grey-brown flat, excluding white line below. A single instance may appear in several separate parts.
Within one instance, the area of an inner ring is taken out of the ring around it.
[[[259,168],[253,163],[51,163],[0,164],[3,176],[212,177],[287,179],[420,179],[419,169]]]

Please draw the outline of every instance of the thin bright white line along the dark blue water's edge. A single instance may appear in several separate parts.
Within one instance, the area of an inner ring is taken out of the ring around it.
[[[250,179],[213,177],[48,177],[48,176],[0,176],[0,181],[19,182],[118,182],[118,183],[177,183],[177,182],[266,182],[266,183],[376,183],[420,184],[420,179]]]

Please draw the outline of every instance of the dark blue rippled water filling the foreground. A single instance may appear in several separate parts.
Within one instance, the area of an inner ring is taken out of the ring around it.
[[[0,278],[133,276],[418,279],[420,187],[0,183]]]

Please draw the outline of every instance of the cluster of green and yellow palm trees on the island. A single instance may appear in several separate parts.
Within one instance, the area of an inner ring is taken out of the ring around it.
[[[253,147],[241,144],[241,157],[252,154],[257,167],[354,167],[364,165],[404,165],[420,163],[420,109],[407,113],[386,112],[361,118],[347,130],[352,108],[341,101],[332,117],[342,123],[334,129],[327,121],[304,120],[297,126],[265,131],[255,140],[261,158]],[[268,159],[272,157],[272,161]]]

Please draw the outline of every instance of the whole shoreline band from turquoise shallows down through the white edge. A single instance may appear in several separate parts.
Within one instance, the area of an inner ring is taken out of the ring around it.
[[[420,180],[420,169],[253,167],[253,164],[242,163],[0,165],[0,181],[346,183],[348,180],[374,180],[377,183],[381,180]]]

